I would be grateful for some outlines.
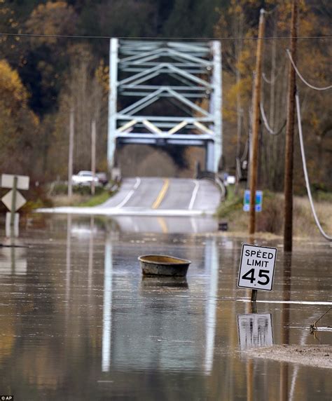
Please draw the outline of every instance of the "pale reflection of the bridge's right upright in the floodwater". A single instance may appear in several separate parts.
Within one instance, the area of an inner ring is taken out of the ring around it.
[[[216,294],[218,292],[219,258],[216,238],[207,239],[205,245],[205,271],[209,271],[209,292],[207,296],[205,373],[211,372],[214,353],[214,336],[216,332]]]

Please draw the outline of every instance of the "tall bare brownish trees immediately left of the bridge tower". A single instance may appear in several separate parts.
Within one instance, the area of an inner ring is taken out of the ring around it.
[[[50,149],[50,168],[67,174],[69,114],[74,111],[74,170],[90,170],[91,123],[97,124],[97,168],[106,168],[108,67],[95,67],[91,48],[84,44],[70,49],[70,69],[60,93],[60,106]],[[58,165],[61,161],[61,167]]]

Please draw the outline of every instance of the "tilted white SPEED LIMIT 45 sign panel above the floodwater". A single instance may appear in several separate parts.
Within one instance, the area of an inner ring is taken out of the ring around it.
[[[242,245],[238,287],[272,290],[277,248]]]

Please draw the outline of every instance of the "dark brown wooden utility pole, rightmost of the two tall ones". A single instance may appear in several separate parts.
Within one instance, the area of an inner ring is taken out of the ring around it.
[[[296,63],[298,0],[293,0],[291,8],[291,57]],[[291,251],[293,243],[293,149],[294,149],[294,114],[296,94],[296,74],[289,65],[289,86],[287,100],[287,125],[284,172],[284,250]]]

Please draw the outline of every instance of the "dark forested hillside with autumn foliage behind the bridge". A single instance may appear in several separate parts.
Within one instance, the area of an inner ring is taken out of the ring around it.
[[[331,35],[331,1],[299,3],[298,36]],[[235,172],[235,158],[238,163],[247,159],[256,58],[256,41],[250,38],[257,36],[261,7],[269,12],[265,36],[289,36],[290,1],[0,1],[1,170],[24,172],[40,181],[65,178],[72,108],[75,170],[90,168],[92,118],[97,120],[97,167],[105,170],[109,40],[77,36],[139,36],[223,38],[223,168]],[[272,190],[282,189],[288,46],[288,39],[264,41],[263,109],[270,128],[279,133],[268,134],[262,124],[259,177],[261,186]],[[331,50],[331,38],[298,39],[298,68],[317,86],[332,81]],[[331,189],[331,91],[311,90],[299,80],[298,89],[311,181]],[[179,155],[171,156],[184,165]],[[191,166],[195,151],[184,151],[181,157]],[[296,191],[301,192],[297,140],[295,168]]]

